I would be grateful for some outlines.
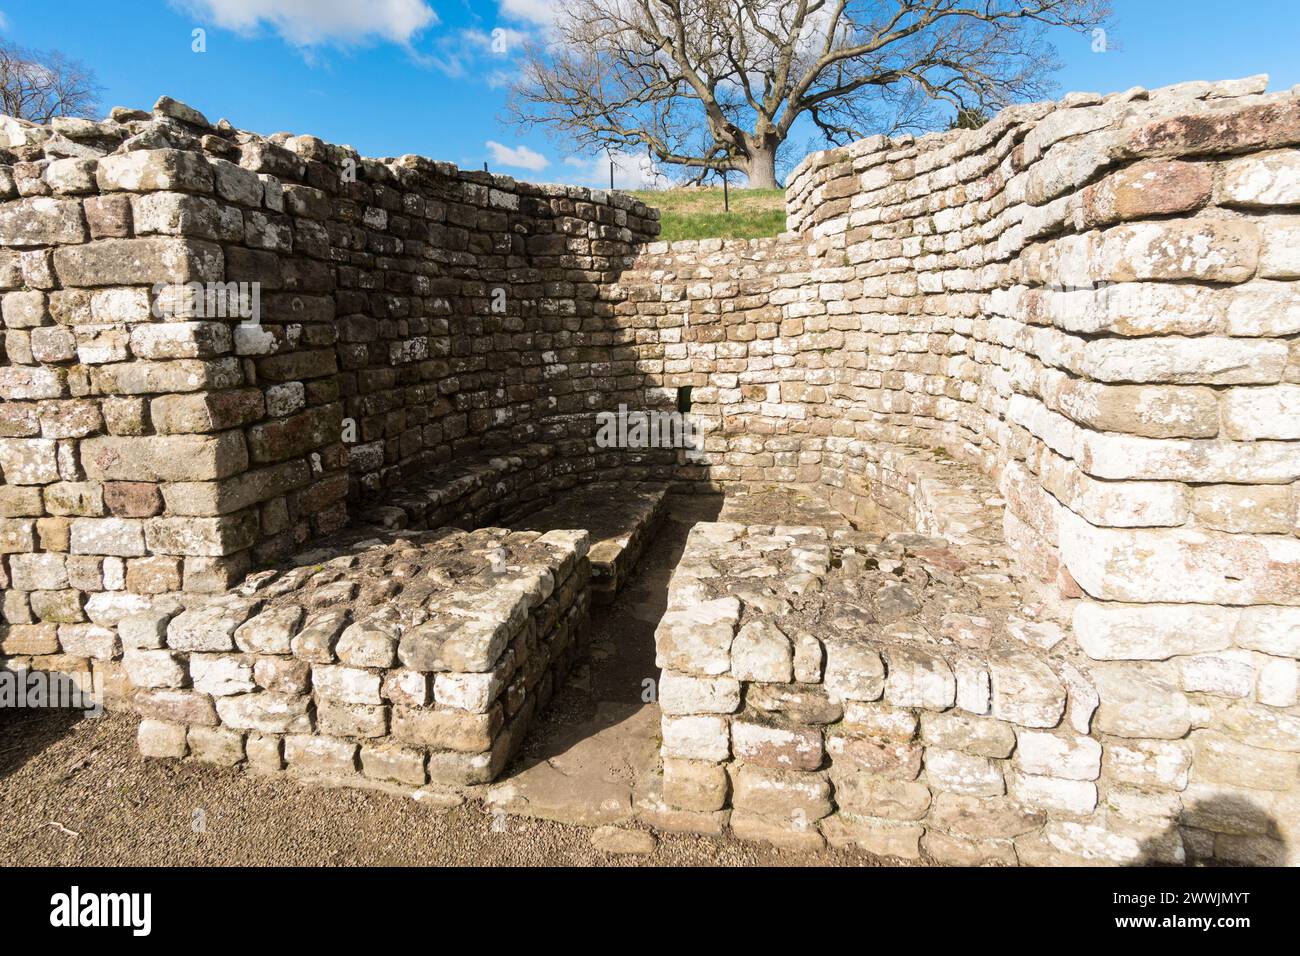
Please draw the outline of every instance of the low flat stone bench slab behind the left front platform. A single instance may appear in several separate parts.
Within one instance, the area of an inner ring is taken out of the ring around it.
[[[664,518],[663,485],[598,481],[581,485],[563,501],[514,522],[519,531],[581,528],[592,536],[592,600],[611,602],[640,561]]]

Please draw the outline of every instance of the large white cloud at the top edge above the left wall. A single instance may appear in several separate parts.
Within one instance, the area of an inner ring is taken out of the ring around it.
[[[425,0],[181,0],[178,5],[237,33],[269,26],[298,47],[350,47],[376,38],[408,46],[438,22]]]

